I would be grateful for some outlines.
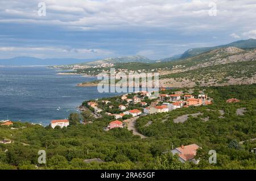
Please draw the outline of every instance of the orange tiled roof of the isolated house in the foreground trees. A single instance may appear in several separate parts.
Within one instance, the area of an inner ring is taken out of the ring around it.
[[[184,159],[184,161],[193,159],[196,155],[196,150],[200,147],[196,144],[187,145],[187,146],[181,146],[179,148],[176,148],[176,150],[180,151],[179,156]]]

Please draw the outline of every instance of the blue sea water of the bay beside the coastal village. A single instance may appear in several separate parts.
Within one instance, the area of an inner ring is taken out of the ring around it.
[[[48,125],[52,119],[65,119],[77,112],[84,100],[117,95],[99,93],[97,87],[76,86],[96,78],[58,72],[43,66],[0,67],[0,120]]]

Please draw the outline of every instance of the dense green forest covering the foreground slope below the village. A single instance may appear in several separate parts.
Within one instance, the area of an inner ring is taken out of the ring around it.
[[[1,126],[0,140],[13,142],[0,144],[0,169],[256,169],[256,142],[246,141],[256,138],[256,85],[197,87],[200,90],[213,104],[140,117],[136,127],[144,139],[126,128],[104,131],[109,116],[80,124],[80,115],[73,114],[71,125],[63,129],[19,122]],[[241,102],[226,103],[230,98]],[[246,110],[242,115],[237,114],[240,108]],[[202,114],[174,123],[178,116],[197,112]],[[202,148],[196,155],[198,165],[163,154],[181,144]],[[39,150],[46,150],[46,164],[38,163]],[[216,150],[216,164],[208,162],[209,150]],[[84,162],[93,158],[104,162]]]

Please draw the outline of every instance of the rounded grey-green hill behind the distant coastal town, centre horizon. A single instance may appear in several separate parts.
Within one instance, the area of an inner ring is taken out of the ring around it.
[[[155,60],[150,60],[147,57],[137,55],[137,56],[127,56],[127,57],[117,57],[117,58],[106,58],[102,60],[85,62],[84,64],[80,64],[80,65],[94,66],[94,65],[101,65],[101,64],[107,64],[107,63],[117,64],[117,63],[128,63],[128,62],[152,63],[152,62],[155,62]]]

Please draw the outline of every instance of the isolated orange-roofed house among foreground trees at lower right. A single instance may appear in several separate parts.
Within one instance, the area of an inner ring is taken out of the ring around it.
[[[196,155],[196,150],[200,147],[196,144],[192,145],[181,145],[179,148],[175,148],[171,150],[172,154],[178,154],[179,155],[179,161],[185,163],[186,161],[191,161],[193,163],[199,163],[194,157]]]

